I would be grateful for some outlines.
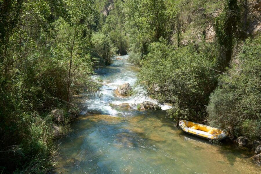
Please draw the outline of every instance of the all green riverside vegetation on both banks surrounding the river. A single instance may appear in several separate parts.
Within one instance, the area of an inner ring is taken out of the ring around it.
[[[168,116],[261,140],[258,0],[1,0],[0,171],[46,173],[115,54]],[[56,109],[56,110],[55,110]],[[57,133],[58,131],[58,133]],[[258,145],[258,143],[257,143]]]

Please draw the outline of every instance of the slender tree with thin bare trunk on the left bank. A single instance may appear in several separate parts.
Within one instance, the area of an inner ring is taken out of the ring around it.
[[[83,37],[84,27],[86,24],[84,20],[90,16],[93,11],[94,1],[84,1],[84,0],[68,0],[66,1],[68,6],[68,12],[70,14],[71,23],[66,23],[66,21],[59,21],[59,29],[63,33],[63,37],[66,39],[59,40],[58,46],[60,44],[65,44],[65,48],[58,48],[62,55],[68,57],[68,77],[67,77],[67,99],[68,107],[70,106],[71,98],[71,86],[73,85],[73,73],[81,63],[84,61],[88,62],[88,55],[82,50],[83,44],[86,44],[87,38]],[[88,44],[88,43],[87,43]],[[63,47],[63,46],[61,46]],[[75,64],[74,64],[75,61]],[[73,68],[75,66],[75,68]]]

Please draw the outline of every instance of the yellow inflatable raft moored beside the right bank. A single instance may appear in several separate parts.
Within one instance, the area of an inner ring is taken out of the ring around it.
[[[179,122],[179,127],[186,133],[206,139],[224,139],[228,136],[228,132],[221,129],[206,126],[204,124],[189,122],[186,120],[181,120]]]

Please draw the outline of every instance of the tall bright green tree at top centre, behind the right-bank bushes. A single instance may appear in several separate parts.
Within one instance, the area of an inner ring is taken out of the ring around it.
[[[173,1],[165,0],[128,0],[124,3],[126,28],[132,43],[131,50],[148,53],[148,45],[164,38],[170,41],[177,9]]]

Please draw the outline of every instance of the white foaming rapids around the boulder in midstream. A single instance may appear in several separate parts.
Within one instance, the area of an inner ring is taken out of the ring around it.
[[[115,58],[116,57],[121,57],[122,59],[128,59],[128,55],[115,56]],[[124,63],[125,63],[125,65],[129,64],[126,61],[124,61]],[[115,64],[116,65],[121,64],[121,62],[117,61],[117,62],[115,62]],[[139,93],[135,96],[131,96],[128,98],[115,97],[114,90],[116,90],[118,86],[120,86],[124,83],[129,83],[129,84],[131,84],[131,86],[133,86],[136,81],[135,72],[130,71],[128,69],[127,70],[120,69],[120,70],[121,71],[119,73],[113,74],[113,77],[108,76],[108,79],[103,79],[103,77],[105,77],[105,76],[100,76],[100,75],[93,75],[91,77],[95,81],[98,81],[97,79],[102,77],[104,85],[102,85],[102,88],[101,88],[101,93],[102,93],[101,99],[96,96],[96,97],[86,100],[86,105],[87,105],[88,111],[98,111],[98,112],[112,115],[112,116],[116,116],[118,114],[131,115],[131,113],[119,112],[119,111],[113,109],[111,106],[109,106],[109,103],[116,104],[116,105],[119,105],[122,103],[128,103],[130,105],[137,105],[137,104],[145,102],[145,101],[150,101],[150,102],[158,104],[157,100],[143,96],[142,94],[144,93],[144,91],[142,91],[142,88],[140,88],[140,87],[137,87],[134,89],[134,90],[137,90]],[[160,106],[161,106],[162,110],[171,108],[171,106],[168,106],[168,105],[160,105]]]

